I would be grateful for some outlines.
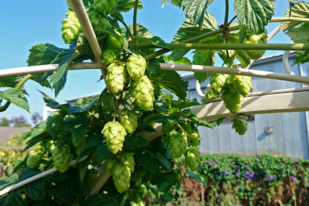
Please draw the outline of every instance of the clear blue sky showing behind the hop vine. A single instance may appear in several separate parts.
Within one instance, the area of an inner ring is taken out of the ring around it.
[[[207,11],[211,12],[222,24],[224,20],[224,0],[216,0]],[[161,0],[142,0],[144,9],[138,10],[137,22],[149,29],[154,35],[161,37],[166,42],[171,42],[174,34],[185,20],[182,9],[167,2],[161,8]],[[276,10],[274,17],[284,16],[288,7],[287,0],[275,2]],[[1,1],[0,7],[0,69],[10,69],[27,66],[28,49],[35,44],[48,42],[57,47],[68,48],[61,38],[62,19],[66,18],[68,7],[65,0],[17,0]],[[229,19],[234,16],[233,1],[230,0]],[[123,14],[125,22],[133,23],[133,10]],[[271,32],[279,23],[270,23],[266,28]],[[283,32],[279,32],[270,43],[289,43],[290,38]],[[266,51],[264,56],[282,53],[282,51]],[[191,55],[187,57],[192,58]],[[222,61],[217,56],[215,65],[221,66]],[[283,68],[282,68],[283,69]],[[188,73],[188,72],[187,72]],[[186,74],[186,72],[180,72]],[[57,97],[59,103],[66,103],[66,99],[101,92],[104,89],[104,82],[96,83],[100,76],[99,70],[69,71],[66,86]],[[28,81],[25,88],[30,95],[27,96],[30,111],[39,112],[43,115],[44,101],[41,90],[54,98],[54,92],[42,88],[34,81]],[[4,88],[1,88],[4,90]],[[4,101],[5,102],[5,101]],[[31,114],[15,106],[10,107],[0,114],[11,119],[12,116],[26,116],[31,122]],[[32,122],[31,122],[32,123]]]

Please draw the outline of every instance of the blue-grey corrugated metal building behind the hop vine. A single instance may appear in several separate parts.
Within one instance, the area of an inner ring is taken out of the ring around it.
[[[296,53],[290,53],[289,65],[293,64],[295,55]],[[286,74],[282,64],[282,54],[261,58],[255,61],[250,69]],[[309,63],[298,64],[292,66],[291,69],[296,75],[309,76]],[[182,75],[182,77],[189,82],[187,98],[197,98],[201,102],[196,92],[196,80],[193,73]],[[207,84],[209,84],[209,78],[201,84],[202,91],[205,91]],[[252,85],[254,87],[252,92],[302,87],[301,84],[295,82],[255,77],[252,78]],[[73,105],[79,98],[91,98],[98,95],[100,93],[66,101]],[[274,104],[274,102],[269,103]],[[226,118],[225,122],[214,129],[199,127],[198,131],[202,138],[200,151],[202,153],[232,151],[248,155],[267,152],[273,155],[309,158],[307,129],[309,120],[306,119],[306,112],[258,114],[250,116],[247,121],[248,131],[243,136],[231,128],[233,124],[231,118]],[[272,128],[272,134],[268,134],[266,128]]]

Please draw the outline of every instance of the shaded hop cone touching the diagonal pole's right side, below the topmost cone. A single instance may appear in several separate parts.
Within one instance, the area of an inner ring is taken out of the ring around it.
[[[108,28],[112,28],[112,24],[110,23],[110,17],[107,17],[100,13],[99,11],[91,11],[88,13],[88,17],[90,19],[93,30],[96,34],[101,34],[102,32],[96,31],[97,29],[106,30]]]

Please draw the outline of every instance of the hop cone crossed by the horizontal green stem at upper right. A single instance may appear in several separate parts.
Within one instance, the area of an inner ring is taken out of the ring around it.
[[[267,30],[264,30],[264,33],[254,34],[249,29],[243,33],[243,41],[245,44],[267,44]],[[246,50],[246,53],[253,60],[258,60],[263,56],[266,50]]]

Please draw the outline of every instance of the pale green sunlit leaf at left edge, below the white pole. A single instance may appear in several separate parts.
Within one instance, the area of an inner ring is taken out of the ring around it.
[[[29,104],[22,90],[11,88],[3,91],[2,94],[2,99],[6,99],[7,101],[29,112]]]

